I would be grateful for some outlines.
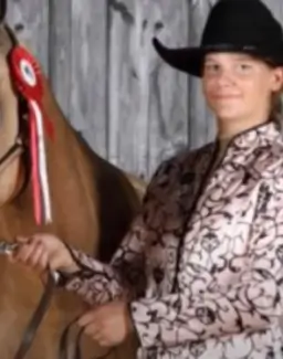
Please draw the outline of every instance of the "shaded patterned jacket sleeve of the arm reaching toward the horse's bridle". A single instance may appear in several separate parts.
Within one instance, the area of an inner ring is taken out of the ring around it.
[[[158,182],[167,178],[168,161],[163,162],[153,176],[140,214],[108,265],[80,251],[72,251],[81,271],[65,281],[67,291],[78,294],[92,305],[120,296],[127,296],[130,300],[143,295],[146,286],[145,245],[150,236],[145,219],[150,215],[153,203],[159,196],[156,190]]]

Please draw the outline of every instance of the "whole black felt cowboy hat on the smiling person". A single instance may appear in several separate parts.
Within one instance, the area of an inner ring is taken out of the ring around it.
[[[260,0],[220,0],[211,9],[199,47],[168,49],[156,38],[158,54],[172,67],[201,76],[203,59],[211,52],[241,52],[274,66],[283,65],[281,24]]]

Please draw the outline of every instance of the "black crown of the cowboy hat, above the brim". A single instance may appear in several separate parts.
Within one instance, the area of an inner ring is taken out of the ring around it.
[[[280,23],[260,0],[220,0],[212,8],[201,44],[282,46]]]

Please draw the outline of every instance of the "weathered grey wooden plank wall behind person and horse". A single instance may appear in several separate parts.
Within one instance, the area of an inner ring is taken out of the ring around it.
[[[9,0],[8,19],[94,150],[148,179],[160,160],[214,135],[198,80],[151,47],[153,35],[172,47],[197,44],[213,2]],[[283,21],[283,1],[265,2]]]

